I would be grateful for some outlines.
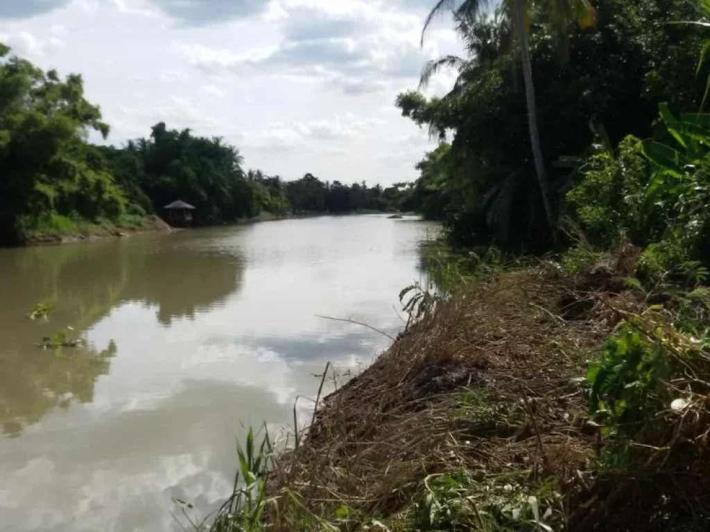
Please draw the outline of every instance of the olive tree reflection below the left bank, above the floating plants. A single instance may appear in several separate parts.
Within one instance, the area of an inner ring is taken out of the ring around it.
[[[160,323],[168,325],[172,318],[192,318],[224,301],[241,285],[243,259],[237,250],[212,249],[199,238],[205,237],[183,237],[180,245],[163,236],[11,250],[17,256],[4,279],[13,279],[24,306],[42,301],[53,309],[72,309],[80,323],[72,319],[71,324],[82,328],[121,301],[158,306]],[[0,275],[6,266],[0,263]],[[4,314],[17,311],[4,305],[0,323],[7,323]]]

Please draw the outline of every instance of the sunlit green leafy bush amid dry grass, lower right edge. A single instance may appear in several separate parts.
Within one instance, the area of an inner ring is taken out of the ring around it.
[[[698,327],[699,318],[707,323],[706,307],[701,308],[705,294],[691,294],[682,298],[687,308],[672,316],[650,307],[643,316],[630,318],[608,340],[601,360],[589,367],[589,411],[610,438],[601,456],[604,465],[628,465],[634,445],[667,445],[674,417],[692,404],[689,398],[699,399],[699,411],[705,408],[709,343],[707,329]],[[693,316],[690,307],[700,314]]]

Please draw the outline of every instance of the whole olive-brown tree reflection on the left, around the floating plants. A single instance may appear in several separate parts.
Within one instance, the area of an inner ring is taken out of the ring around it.
[[[4,432],[18,436],[54,408],[91,402],[95,382],[109,372],[115,345],[100,353],[66,348],[54,356],[36,346],[43,336],[67,326],[80,336],[127,301],[158,306],[158,319],[168,325],[239,289],[242,261],[233,248],[229,253],[205,248],[204,236],[149,236],[0,250]],[[50,306],[46,323],[25,316],[39,302]]]

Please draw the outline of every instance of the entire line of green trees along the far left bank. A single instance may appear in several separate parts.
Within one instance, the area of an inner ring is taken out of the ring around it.
[[[195,223],[251,218],[263,212],[346,213],[396,209],[406,186],[388,189],[323,182],[306,174],[286,182],[259,171],[222,138],[153,126],[124,148],[88,142],[109,125],[84,99],[82,77],[65,79],[10,55],[0,44],[0,243],[80,223],[140,225],[147,214],[182,199]]]

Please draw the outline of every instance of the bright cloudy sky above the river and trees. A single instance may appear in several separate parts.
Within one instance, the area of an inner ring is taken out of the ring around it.
[[[246,168],[383,185],[435,148],[394,102],[427,60],[459,53],[451,19],[420,46],[432,0],[0,0],[0,42],[80,73],[111,125],[221,136]],[[453,73],[432,80],[443,94]],[[96,136],[92,140],[100,141]]]

